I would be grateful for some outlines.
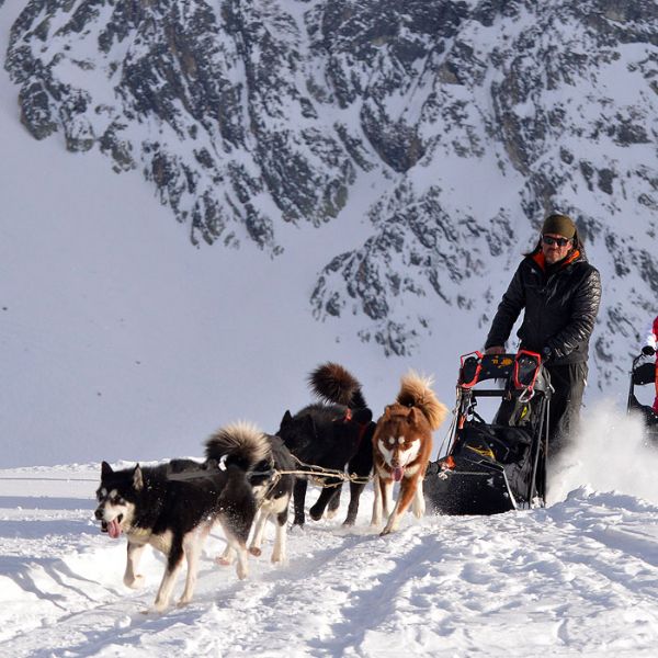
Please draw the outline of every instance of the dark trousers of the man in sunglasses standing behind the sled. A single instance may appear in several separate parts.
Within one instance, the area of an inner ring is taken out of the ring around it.
[[[587,382],[587,363],[547,364],[551,384],[555,392],[551,397],[548,415],[548,458],[553,460],[574,439],[580,419],[580,406]]]

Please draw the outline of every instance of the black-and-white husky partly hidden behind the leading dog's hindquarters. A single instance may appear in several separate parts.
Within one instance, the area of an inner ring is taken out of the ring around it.
[[[285,561],[287,558],[288,504],[295,484],[295,476],[290,472],[296,468],[295,458],[279,436],[265,434],[249,422],[237,422],[211,436],[206,441],[206,457],[222,463],[227,443],[238,441],[264,441],[266,444],[263,460],[256,464],[247,475],[258,504],[249,553],[256,556],[261,555],[265,524],[269,519],[272,519],[276,527],[272,561]],[[225,565],[230,564],[235,554],[232,548],[231,544],[227,543],[226,551],[217,561]]]

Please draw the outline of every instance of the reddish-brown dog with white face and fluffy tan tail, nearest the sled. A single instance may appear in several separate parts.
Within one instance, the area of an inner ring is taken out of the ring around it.
[[[372,525],[381,525],[382,511],[388,518],[382,534],[397,530],[400,518],[413,501],[413,514],[424,514],[422,480],[432,453],[432,431],[447,415],[431,389],[432,379],[410,371],[401,378],[395,404],[386,407],[373,436],[375,502]],[[393,503],[394,483],[399,483]]]

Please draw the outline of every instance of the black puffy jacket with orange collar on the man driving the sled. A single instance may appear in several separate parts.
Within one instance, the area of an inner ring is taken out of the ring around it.
[[[541,250],[526,256],[502,296],[485,348],[504,345],[519,314],[521,349],[551,350],[554,364],[587,361],[589,339],[601,302],[601,277],[575,250],[546,268]]]

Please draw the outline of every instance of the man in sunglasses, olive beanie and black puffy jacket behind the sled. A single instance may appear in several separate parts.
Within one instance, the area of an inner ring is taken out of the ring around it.
[[[542,355],[555,388],[548,418],[552,456],[578,421],[600,300],[599,271],[587,261],[576,225],[566,215],[548,216],[536,248],[521,261],[502,296],[485,352],[506,352],[504,343],[525,309],[517,333],[520,349]]]

